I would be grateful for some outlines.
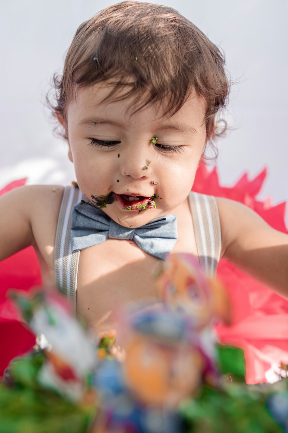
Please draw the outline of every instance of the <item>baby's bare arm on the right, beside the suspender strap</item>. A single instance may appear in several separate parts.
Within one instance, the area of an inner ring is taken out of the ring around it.
[[[273,229],[244,204],[216,198],[222,259],[288,298],[288,235]]]

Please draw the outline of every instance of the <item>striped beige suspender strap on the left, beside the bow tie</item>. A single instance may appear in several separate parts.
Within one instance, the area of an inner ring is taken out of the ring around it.
[[[70,228],[73,206],[82,200],[78,187],[65,187],[58,216],[54,246],[55,283],[70,299],[76,311],[77,272],[80,252],[72,252]]]

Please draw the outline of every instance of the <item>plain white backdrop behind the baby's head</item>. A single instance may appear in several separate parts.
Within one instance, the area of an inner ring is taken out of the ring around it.
[[[44,99],[54,71],[78,26],[116,1],[13,0],[0,6],[0,188],[19,178],[29,184],[75,180],[66,144],[52,135]],[[152,3],[159,3],[152,1]],[[162,2],[160,2],[162,3]],[[232,87],[225,118],[231,128],[218,142],[222,185],[268,167],[260,198],[288,201],[288,60],[286,0],[165,0],[225,52]],[[288,211],[286,212],[288,223]]]

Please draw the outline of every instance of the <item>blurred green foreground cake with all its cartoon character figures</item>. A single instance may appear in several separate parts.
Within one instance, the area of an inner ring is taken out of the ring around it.
[[[14,291],[37,344],[6,369],[0,432],[283,432],[288,379],[246,385],[243,352],[213,336],[229,321],[222,286],[189,255],[168,258],[157,284],[157,304],[118,313],[121,348],[114,330],[94,339],[63,295]]]

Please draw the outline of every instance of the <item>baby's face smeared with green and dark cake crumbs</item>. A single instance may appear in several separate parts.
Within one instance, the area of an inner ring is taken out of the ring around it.
[[[187,198],[206,142],[205,100],[192,94],[169,119],[161,103],[132,114],[131,98],[101,102],[110,91],[94,84],[69,104],[69,158],[87,200],[117,223],[138,227]]]

